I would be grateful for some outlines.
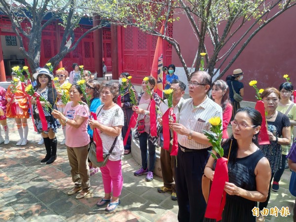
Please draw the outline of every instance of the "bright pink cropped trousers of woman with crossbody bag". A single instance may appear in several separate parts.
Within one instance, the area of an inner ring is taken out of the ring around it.
[[[121,160],[108,160],[106,166],[100,167],[102,172],[105,193],[113,192],[113,196],[120,196],[123,177],[121,172]]]

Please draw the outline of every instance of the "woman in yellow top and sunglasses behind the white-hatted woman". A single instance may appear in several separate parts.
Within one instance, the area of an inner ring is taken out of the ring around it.
[[[63,69],[58,69],[56,71],[56,76],[59,78],[59,83],[60,83],[60,89],[57,89],[57,109],[60,112],[64,112],[66,105],[63,104],[62,102],[62,96],[63,93],[65,92],[66,95],[69,97],[69,91],[70,88],[72,86],[72,84],[70,82],[66,81],[66,78],[68,77],[68,72],[66,70]],[[70,97],[69,97],[70,98]],[[66,141],[66,127],[63,126],[63,134],[64,134],[64,140],[61,142],[61,145],[65,145],[65,141]]]

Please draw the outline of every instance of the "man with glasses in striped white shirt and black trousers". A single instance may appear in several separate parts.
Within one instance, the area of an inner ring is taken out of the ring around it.
[[[208,73],[192,73],[188,82],[191,98],[185,100],[177,116],[179,123],[171,124],[179,143],[175,166],[179,222],[202,222],[206,210],[201,179],[212,148],[203,130],[210,131],[211,117],[222,119],[222,108],[207,96],[211,85]]]

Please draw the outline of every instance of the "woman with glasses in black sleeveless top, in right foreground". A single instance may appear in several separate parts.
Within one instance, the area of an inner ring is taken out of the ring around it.
[[[257,202],[263,202],[267,198],[271,177],[269,162],[253,143],[261,122],[259,111],[252,108],[238,110],[231,122],[233,136],[222,145],[227,157],[232,140],[228,160],[229,182],[224,186],[227,195],[222,222],[256,222],[252,209],[257,207]],[[210,156],[204,172],[211,180],[215,173],[214,167],[214,158]]]

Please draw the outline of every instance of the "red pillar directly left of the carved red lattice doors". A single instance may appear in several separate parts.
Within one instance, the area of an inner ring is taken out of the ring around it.
[[[118,44],[117,26],[111,24],[111,59],[112,59],[112,79],[118,79]]]

